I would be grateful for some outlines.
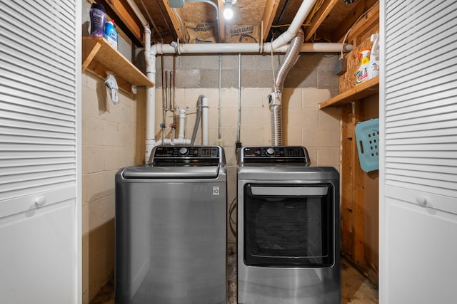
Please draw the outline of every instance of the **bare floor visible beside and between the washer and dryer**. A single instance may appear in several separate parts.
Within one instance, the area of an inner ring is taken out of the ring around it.
[[[227,304],[236,304],[236,245],[229,243],[227,248]],[[341,258],[341,304],[374,304],[378,303],[378,289],[360,272]],[[91,304],[114,304],[114,279],[111,279]],[[280,303],[278,303],[280,304]]]

